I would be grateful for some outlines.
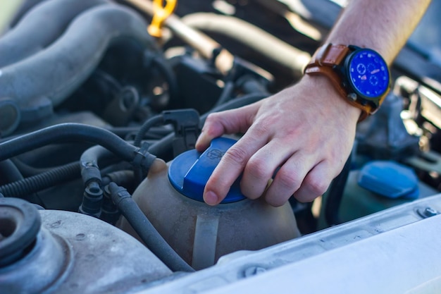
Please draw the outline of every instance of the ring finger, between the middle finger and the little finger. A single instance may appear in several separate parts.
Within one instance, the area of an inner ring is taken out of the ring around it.
[[[269,204],[278,207],[301,188],[304,178],[315,165],[311,155],[296,152],[283,164],[268,190],[265,192],[265,200]]]

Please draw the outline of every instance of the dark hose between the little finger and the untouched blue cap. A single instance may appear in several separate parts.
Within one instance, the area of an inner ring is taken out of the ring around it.
[[[352,154],[349,154],[342,171],[337,177],[334,178],[333,183],[330,185],[325,204],[325,220],[326,223],[328,223],[328,226],[335,226],[341,223],[339,216],[340,204],[342,202],[347,177],[349,176],[349,171],[351,170],[351,164]]]

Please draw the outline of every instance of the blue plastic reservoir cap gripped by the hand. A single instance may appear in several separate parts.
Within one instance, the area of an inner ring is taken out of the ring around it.
[[[203,193],[207,180],[221,161],[223,154],[235,142],[226,137],[218,137],[211,141],[210,147],[203,153],[192,149],[178,155],[168,169],[171,185],[182,195],[204,202]],[[221,203],[237,202],[245,198],[240,192],[239,183],[240,178],[233,183],[230,192]]]

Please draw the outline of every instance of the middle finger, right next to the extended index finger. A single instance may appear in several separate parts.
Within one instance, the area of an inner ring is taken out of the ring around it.
[[[279,166],[292,156],[290,145],[280,145],[275,140],[259,149],[251,156],[245,166],[240,190],[250,198],[256,199],[265,192],[268,180]]]

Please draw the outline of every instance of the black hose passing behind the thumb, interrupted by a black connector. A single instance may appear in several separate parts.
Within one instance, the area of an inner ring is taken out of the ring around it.
[[[221,106],[215,107],[210,111],[206,112],[206,114],[201,115],[200,125],[203,125],[207,116],[213,112],[224,111],[228,109],[236,109],[254,102],[258,102],[259,100],[268,97],[268,94],[248,94],[243,97],[232,99],[231,101],[222,104]],[[163,137],[161,140],[158,140],[154,144],[149,147],[149,152],[151,154],[156,155],[156,157],[163,158],[166,157],[166,154],[170,154],[172,150],[173,138],[175,137],[175,133],[170,133]],[[1,146],[1,145],[0,145]]]

